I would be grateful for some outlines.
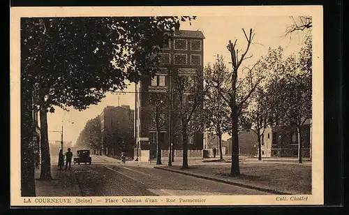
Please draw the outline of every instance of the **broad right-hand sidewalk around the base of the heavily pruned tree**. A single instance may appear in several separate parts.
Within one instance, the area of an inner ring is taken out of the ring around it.
[[[309,165],[272,162],[240,163],[241,175],[237,177],[229,176],[231,168],[229,163],[221,165],[188,163],[188,165],[189,168],[186,170],[181,169],[181,165],[161,165],[154,168],[273,194],[311,194],[311,166]]]

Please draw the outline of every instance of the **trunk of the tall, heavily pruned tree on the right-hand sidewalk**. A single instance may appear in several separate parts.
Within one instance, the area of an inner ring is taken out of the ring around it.
[[[232,111],[232,168],[230,170],[231,176],[240,175],[239,167],[239,137],[237,131],[237,110],[233,108]]]

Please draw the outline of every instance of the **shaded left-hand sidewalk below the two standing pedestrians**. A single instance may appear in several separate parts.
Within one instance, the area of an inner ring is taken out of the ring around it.
[[[35,170],[36,196],[79,196],[80,188],[74,170],[59,170],[57,163],[51,163],[52,180],[40,180],[40,166]]]

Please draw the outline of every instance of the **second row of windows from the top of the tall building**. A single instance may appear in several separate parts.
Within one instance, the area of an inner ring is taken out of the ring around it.
[[[187,65],[188,54],[173,54],[173,64]],[[190,54],[190,65],[201,65],[201,54]],[[171,64],[171,54],[161,53],[160,64]]]

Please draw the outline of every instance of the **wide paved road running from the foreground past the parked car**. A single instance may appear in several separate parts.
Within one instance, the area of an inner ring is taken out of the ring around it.
[[[91,165],[72,165],[80,195],[263,195],[259,191],[93,156]]]

